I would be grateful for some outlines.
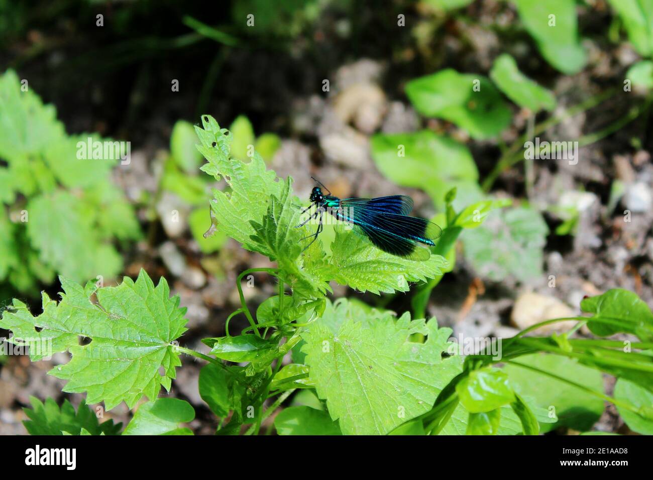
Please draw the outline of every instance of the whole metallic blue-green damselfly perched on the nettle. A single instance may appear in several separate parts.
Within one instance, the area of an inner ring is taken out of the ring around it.
[[[442,229],[426,219],[408,216],[413,210],[411,197],[390,195],[375,199],[339,199],[331,195],[322,182],[315,178],[313,180],[327,191],[327,195],[322,192],[321,187],[314,187],[311,191],[311,204],[301,212],[305,214],[311,208],[315,208],[315,213],[310,214],[308,219],[297,227],[303,227],[319,217],[315,233],[302,238],[302,240],[313,238],[304,250],[317,240],[317,236],[323,230],[322,216],[328,212],[336,219],[354,225],[355,232],[369,238],[383,251],[411,260],[428,260],[430,252],[418,244],[434,246],[433,241],[439,238]]]

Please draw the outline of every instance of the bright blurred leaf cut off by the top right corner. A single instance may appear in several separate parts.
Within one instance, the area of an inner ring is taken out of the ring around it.
[[[624,21],[628,39],[637,53],[644,57],[653,54],[653,1],[608,0]]]

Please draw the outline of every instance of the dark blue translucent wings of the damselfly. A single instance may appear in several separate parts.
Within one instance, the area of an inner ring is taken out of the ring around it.
[[[435,223],[403,213],[412,209],[413,200],[410,197],[394,195],[379,199],[345,199],[340,206],[345,219],[360,227],[377,248],[392,255],[426,260],[430,252],[417,246],[417,243],[432,246],[433,240],[442,233]]]

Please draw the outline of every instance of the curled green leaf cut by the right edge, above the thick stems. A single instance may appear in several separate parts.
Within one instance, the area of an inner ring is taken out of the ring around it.
[[[584,298],[581,310],[594,313],[588,317],[587,327],[598,336],[626,332],[643,342],[653,340],[653,312],[636,293],[611,289],[603,295]]]

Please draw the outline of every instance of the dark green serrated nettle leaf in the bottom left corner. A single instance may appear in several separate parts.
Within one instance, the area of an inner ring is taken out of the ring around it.
[[[77,411],[68,400],[63,401],[61,409],[53,398],[46,398],[43,404],[34,396],[29,397],[32,408],[23,411],[29,420],[23,421],[30,435],[81,435],[82,431],[88,435],[118,435],[121,423],[114,424],[113,420],[103,423],[97,421],[97,416],[86,402],[82,400]]]

